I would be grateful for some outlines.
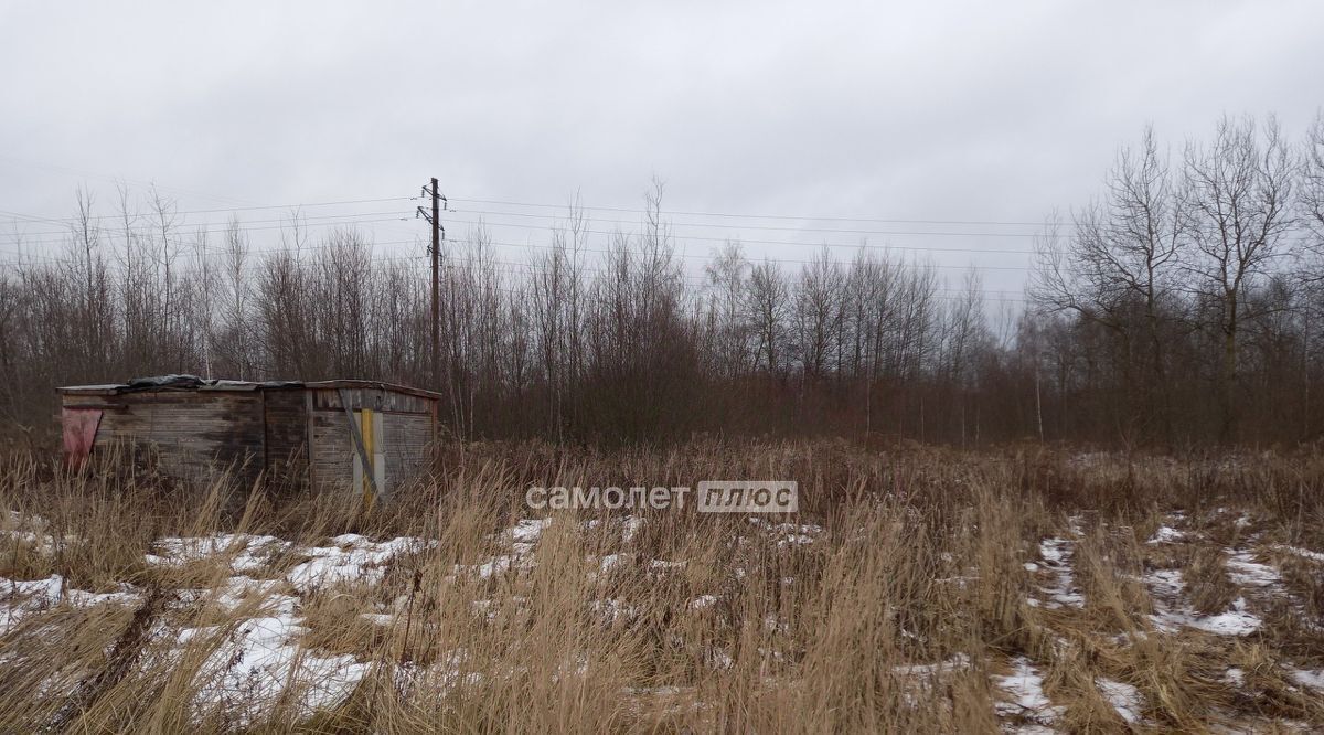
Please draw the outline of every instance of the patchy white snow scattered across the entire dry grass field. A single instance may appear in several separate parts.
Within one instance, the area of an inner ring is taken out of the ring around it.
[[[1170,520],[1182,519],[1172,516]],[[751,518],[749,522],[779,546],[813,543],[824,534],[822,527],[812,524],[772,523],[763,518]],[[591,520],[585,527],[594,528],[601,523],[602,520]],[[645,519],[626,516],[618,523],[620,538],[629,544],[642,530]],[[510,528],[490,536],[498,543],[491,556],[479,559],[474,564],[455,565],[455,573],[487,579],[531,568],[535,548],[551,524],[551,518],[518,520]],[[11,528],[0,531],[0,535],[3,534],[38,548],[53,547],[57,543],[30,530]],[[1086,600],[1075,585],[1072,573],[1076,538],[1079,528],[1072,520],[1071,534],[1042,539],[1037,550],[1038,560],[1023,563],[1025,569],[1038,575],[1043,583],[1039,588],[1041,599],[1031,599],[1030,604],[1050,609],[1084,605]],[[1188,540],[1188,534],[1173,523],[1161,526],[1147,543],[1178,544]],[[234,716],[245,720],[261,714],[263,707],[269,707],[282,694],[290,697],[291,703],[302,711],[312,711],[343,701],[367,673],[369,665],[356,661],[352,656],[310,650],[302,644],[307,632],[299,614],[302,596],[335,584],[377,584],[396,558],[426,551],[433,544],[434,542],[429,544],[413,538],[373,542],[354,534],[336,536],[326,546],[315,547],[297,546],[274,536],[245,534],[158,540],[146,558],[150,564],[181,567],[192,562],[220,558],[233,572],[214,589],[180,591],[180,604],[211,601],[229,612],[242,609],[248,616],[226,629],[201,626],[169,633],[177,641],[177,646],[200,640],[213,640],[220,644],[207,654],[207,665],[203,667],[207,678],[201,682],[201,693],[195,702],[196,710],[205,712],[211,707],[236,707],[242,703],[241,711]],[[1324,562],[1324,554],[1316,551],[1286,546],[1274,548],[1303,559]],[[1247,599],[1254,603],[1259,599],[1256,596],[1282,591],[1282,577],[1274,567],[1256,562],[1253,551],[1238,548],[1225,551],[1229,577],[1243,588],[1245,596],[1238,597],[1223,613],[1201,616],[1184,603],[1185,584],[1180,569],[1149,571],[1144,576],[1144,583],[1155,599],[1156,611],[1151,620],[1156,629],[1170,633],[1189,628],[1217,636],[1246,636],[1260,628],[1260,620],[1251,611]],[[270,575],[275,558],[297,563],[283,573],[277,572],[275,579],[253,579],[262,571]],[[634,552],[621,551],[589,558],[588,562],[593,565],[589,573],[601,575],[633,565],[636,560],[641,568],[653,575],[686,565],[683,560],[638,559]],[[71,589],[58,575],[29,581],[0,579],[0,632],[12,629],[29,614],[58,605],[135,605],[140,599],[139,591],[127,585],[99,593]],[[715,595],[699,595],[686,607],[690,611],[708,611],[715,608],[718,601],[719,597]],[[490,600],[474,600],[473,605],[477,614],[487,617],[496,614],[495,605]],[[638,614],[633,605],[621,599],[591,600],[587,605],[605,624],[630,620]],[[360,617],[375,625],[392,625],[395,616],[389,613],[389,605],[377,608],[384,612],[361,613]],[[784,624],[772,618],[771,625],[772,629],[780,629]],[[719,648],[706,649],[703,657],[714,669],[732,665],[731,656]],[[947,661],[910,663],[898,666],[894,671],[902,677],[924,681],[940,677],[944,671],[969,666],[970,660],[959,653]],[[1229,670],[1227,677],[1234,677],[1234,673],[1239,678],[1241,671],[1235,669]],[[414,683],[433,675],[417,671]],[[465,681],[459,667],[446,669],[437,675],[441,675],[444,683],[450,682],[448,686]],[[1301,686],[1324,690],[1321,670],[1292,669],[1290,675]],[[994,675],[993,683],[1004,695],[996,705],[996,711],[1017,731],[1049,730],[1063,711],[1063,707],[1055,706],[1045,694],[1043,674],[1029,658],[1014,658],[1012,673]],[[1143,724],[1144,699],[1135,686],[1108,678],[1098,678],[1095,683],[1127,723]]]

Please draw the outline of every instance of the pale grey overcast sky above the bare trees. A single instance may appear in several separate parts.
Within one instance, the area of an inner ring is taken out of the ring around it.
[[[638,208],[653,176],[677,212],[1033,222],[1087,201],[1147,122],[1180,146],[1223,113],[1276,113],[1299,136],[1324,103],[1324,3],[1086,5],[0,1],[0,211],[68,217],[86,184],[110,212],[115,179],[195,212],[406,197],[437,176],[453,236],[482,217],[511,260],[547,240],[553,211],[526,204]],[[728,236],[782,260],[867,237],[953,285],[996,266],[1008,290],[1029,258],[989,250],[1033,229],[673,220],[691,257]],[[16,221],[0,215],[29,252],[58,248],[53,225]],[[384,253],[424,232],[361,226]]]

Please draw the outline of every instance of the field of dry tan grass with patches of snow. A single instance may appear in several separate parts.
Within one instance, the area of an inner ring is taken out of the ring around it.
[[[1324,728],[1324,457],[450,449],[372,513],[0,464],[0,731]],[[793,516],[530,486],[794,479]]]

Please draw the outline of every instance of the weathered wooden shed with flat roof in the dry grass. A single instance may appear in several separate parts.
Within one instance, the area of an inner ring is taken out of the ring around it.
[[[58,388],[71,461],[110,444],[148,445],[176,477],[229,469],[316,491],[376,495],[425,471],[437,437],[430,391],[368,380],[203,380],[192,375]],[[367,470],[367,471],[365,471]]]

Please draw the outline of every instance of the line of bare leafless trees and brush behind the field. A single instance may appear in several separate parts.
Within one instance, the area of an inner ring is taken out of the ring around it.
[[[661,196],[605,252],[573,205],[527,261],[482,228],[450,244],[433,364],[420,258],[297,213],[256,249],[237,219],[191,230],[160,195],[79,192],[57,254],[4,266],[0,413],[42,433],[57,385],[191,372],[425,387],[457,438],[1181,448],[1324,429],[1324,118],[1299,139],[1226,118],[1176,151],[1147,130],[1045,226],[1016,313],[976,269],[948,283],[867,245],[789,265],[732,240],[694,277]]]

